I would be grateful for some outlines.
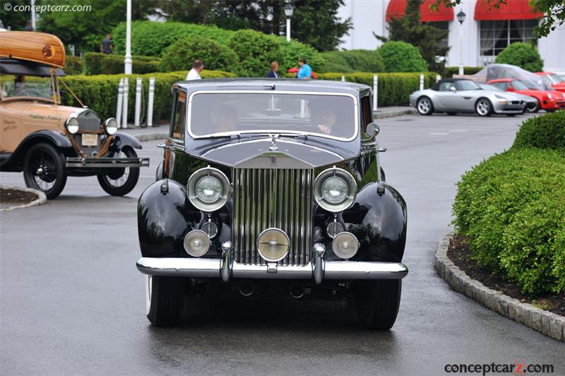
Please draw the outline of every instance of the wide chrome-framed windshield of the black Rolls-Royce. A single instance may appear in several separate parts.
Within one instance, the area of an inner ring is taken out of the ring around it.
[[[189,100],[188,129],[193,137],[306,133],[354,139],[356,114],[356,101],[343,94],[201,92]]]

